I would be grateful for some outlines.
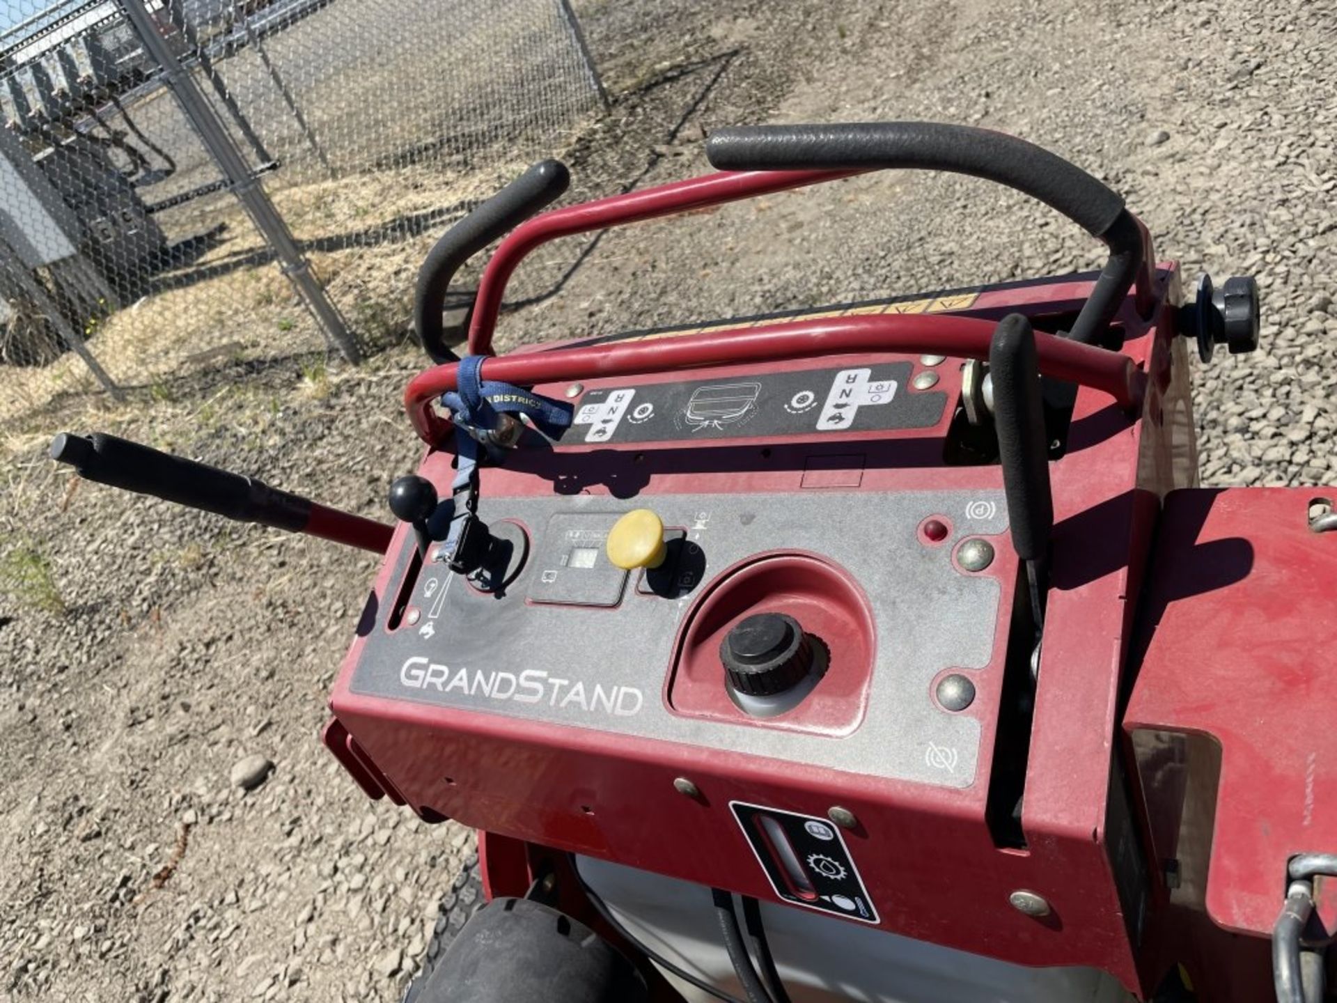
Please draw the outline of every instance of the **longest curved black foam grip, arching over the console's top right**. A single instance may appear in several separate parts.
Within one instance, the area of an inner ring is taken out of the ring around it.
[[[1143,258],[1142,227],[1123,197],[1076,164],[1016,136],[937,122],[739,126],[706,140],[710,163],[729,171],[921,169],[1007,185],[1056,209],[1110,247],[1070,337],[1100,344]]]

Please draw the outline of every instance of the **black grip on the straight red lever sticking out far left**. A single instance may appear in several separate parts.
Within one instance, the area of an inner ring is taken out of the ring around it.
[[[114,488],[152,495],[243,523],[301,532],[312,503],[271,488],[255,477],[230,473],[182,456],[159,452],[102,432],[62,432],[51,440],[51,459],[71,464],[82,477]]]

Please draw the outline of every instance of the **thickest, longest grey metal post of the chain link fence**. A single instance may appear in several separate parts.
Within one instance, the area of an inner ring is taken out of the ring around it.
[[[126,12],[126,19],[144,51],[166,75],[167,86],[199,134],[210,156],[227,179],[229,189],[237,195],[246,214],[255,223],[255,229],[261,231],[278,257],[283,266],[283,274],[287,275],[298,297],[316,318],[325,340],[337,348],[349,362],[361,361],[362,353],[349,333],[344,317],[325,294],[325,289],[312,273],[312,266],[298,249],[287,223],[283,222],[278,210],[269,201],[269,195],[265,194],[265,189],[246,166],[245,158],[195,84],[190,71],[178,62],[167,41],[158,33],[144,0],[118,0],[118,3]]]

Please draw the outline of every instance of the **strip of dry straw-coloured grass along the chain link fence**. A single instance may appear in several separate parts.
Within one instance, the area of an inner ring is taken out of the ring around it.
[[[441,164],[385,170],[279,189],[273,201],[350,328],[365,344],[382,345],[406,334],[413,275],[432,241],[521,167],[501,163],[464,177]],[[163,273],[163,292],[92,325],[88,346],[130,388],[130,404],[111,401],[72,353],[44,368],[0,368],[0,455],[31,448],[59,421],[95,415],[115,424],[123,408],[146,397],[172,400],[189,392],[178,389],[183,377],[211,368],[324,348],[287,280],[263,261],[239,205],[221,197],[193,209],[201,231],[223,225],[218,245]],[[306,382],[318,391],[318,380]]]

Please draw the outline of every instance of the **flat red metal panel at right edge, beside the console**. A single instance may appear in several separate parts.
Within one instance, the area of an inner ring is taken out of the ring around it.
[[[1310,531],[1316,495],[1332,491],[1166,499],[1124,732],[1147,816],[1170,822],[1152,825],[1155,857],[1185,873],[1166,897],[1191,928],[1210,917],[1269,936],[1286,861],[1337,848],[1337,802],[1325,793],[1337,786],[1337,730],[1324,717],[1337,650],[1337,534]],[[1136,741],[1146,736],[1162,754]],[[1197,817],[1195,782],[1213,794]],[[1213,979],[1221,952],[1195,948],[1198,978]]]

